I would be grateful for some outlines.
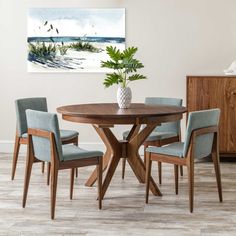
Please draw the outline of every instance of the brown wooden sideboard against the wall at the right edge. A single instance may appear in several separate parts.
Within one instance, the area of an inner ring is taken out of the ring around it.
[[[187,109],[220,108],[220,154],[236,157],[236,76],[187,76]]]

